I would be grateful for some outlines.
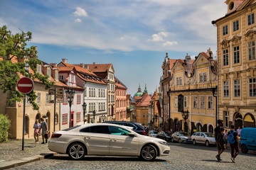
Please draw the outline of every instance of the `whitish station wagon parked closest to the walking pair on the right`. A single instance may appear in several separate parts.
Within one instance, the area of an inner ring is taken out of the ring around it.
[[[206,145],[209,147],[210,145],[215,145],[215,137],[211,132],[194,132],[191,136],[193,145],[198,143]]]

